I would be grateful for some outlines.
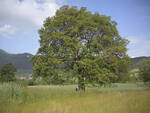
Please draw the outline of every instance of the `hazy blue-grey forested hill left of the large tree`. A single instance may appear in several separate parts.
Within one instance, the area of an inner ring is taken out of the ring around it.
[[[11,62],[18,69],[19,73],[31,73],[32,63],[29,59],[32,56],[30,53],[10,54],[0,49],[0,67]]]

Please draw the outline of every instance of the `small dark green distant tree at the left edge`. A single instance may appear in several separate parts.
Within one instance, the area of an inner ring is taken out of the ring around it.
[[[9,82],[15,80],[16,67],[12,63],[5,64],[0,69],[0,81]]]

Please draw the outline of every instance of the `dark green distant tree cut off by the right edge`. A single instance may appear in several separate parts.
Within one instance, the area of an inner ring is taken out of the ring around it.
[[[150,82],[150,59],[145,59],[140,65],[139,75],[143,82]]]

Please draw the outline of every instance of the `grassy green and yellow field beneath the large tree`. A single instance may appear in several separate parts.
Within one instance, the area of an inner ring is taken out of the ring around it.
[[[0,113],[150,113],[150,90],[137,84],[112,88],[1,84]]]

